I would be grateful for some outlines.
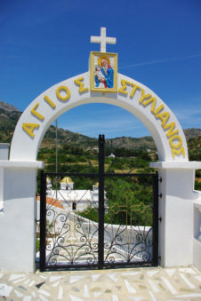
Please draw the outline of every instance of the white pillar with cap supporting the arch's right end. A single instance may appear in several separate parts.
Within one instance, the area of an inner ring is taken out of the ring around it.
[[[159,170],[159,256],[163,266],[193,264],[195,170],[201,162],[151,162]]]

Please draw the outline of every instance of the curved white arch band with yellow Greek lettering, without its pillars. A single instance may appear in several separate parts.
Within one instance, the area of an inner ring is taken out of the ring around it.
[[[118,93],[90,91],[89,72],[44,91],[20,117],[12,139],[10,160],[35,161],[44,133],[69,109],[87,103],[108,103],[125,108],[141,120],[155,140],[160,161],[187,162],[186,139],[170,108],[143,84],[125,75],[118,74],[117,78]],[[22,145],[26,148],[21,148]]]

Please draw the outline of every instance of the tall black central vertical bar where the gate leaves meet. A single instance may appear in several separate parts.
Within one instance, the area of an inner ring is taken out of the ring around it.
[[[99,135],[99,267],[104,264],[104,152],[105,136]]]

